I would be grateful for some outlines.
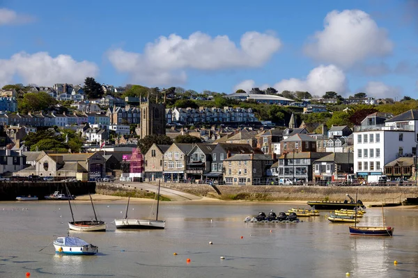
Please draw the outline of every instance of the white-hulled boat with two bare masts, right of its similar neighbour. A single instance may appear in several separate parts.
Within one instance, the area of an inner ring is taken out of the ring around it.
[[[151,219],[128,219],[127,210],[129,208],[130,197],[127,198],[127,205],[124,219],[115,219],[116,229],[164,229],[165,220],[158,220],[158,208],[160,206],[160,181],[158,182],[157,194],[157,213],[155,220]]]

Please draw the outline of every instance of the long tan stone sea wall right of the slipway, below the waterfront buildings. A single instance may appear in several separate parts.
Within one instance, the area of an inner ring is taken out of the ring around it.
[[[417,186],[208,186],[190,183],[162,183],[163,187],[219,199],[259,199],[281,201],[341,201],[349,194],[363,202],[400,202],[418,197]]]

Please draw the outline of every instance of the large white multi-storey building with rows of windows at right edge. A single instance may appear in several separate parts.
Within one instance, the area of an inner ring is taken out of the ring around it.
[[[362,177],[382,174],[396,158],[415,156],[417,127],[418,111],[412,110],[386,120],[385,125],[356,126],[354,172]]]

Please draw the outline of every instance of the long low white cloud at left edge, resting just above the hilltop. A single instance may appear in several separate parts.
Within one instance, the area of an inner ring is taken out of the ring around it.
[[[68,55],[49,56],[47,52],[20,52],[8,60],[0,60],[0,85],[13,81],[15,75],[24,83],[52,85],[82,83],[86,76],[97,76],[99,68],[89,61],[78,62]]]

